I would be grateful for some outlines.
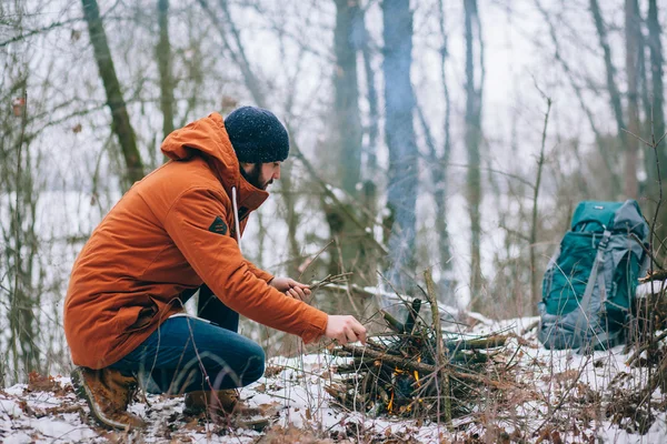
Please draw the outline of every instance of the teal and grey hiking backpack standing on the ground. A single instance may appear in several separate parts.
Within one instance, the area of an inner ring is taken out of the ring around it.
[[[542,281],[538,339],[547,349],[605,350],[624,342],[648,265],[648,232],[634,200],[577,205]]]

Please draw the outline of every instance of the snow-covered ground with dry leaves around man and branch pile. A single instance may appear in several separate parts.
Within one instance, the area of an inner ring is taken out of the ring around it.
[[[667,417],[664,396],[654,394],[654,418],[644,434],[638,421],[613,422],[610,407],[625,405],[630,393],[646,381],[644,367],[630,367],[631,351],[623,347],[584,356],[571,351],[550,352],[537,343],[536,319],[491,323],[480,316],[477,333],[507,330],[512,335],[505,350],[510,387],[498,402],[454,421],[450,427],[428,421],[369,417],[336,406],[325,386],[342,359],[322,351],[299,359],[275,359],[265,377],[243,389],[250,405],[273,415],[265,433],[229,427],[182,414],[182,397],[148,395],[130,410],[149,423],[130,434],[98,427],[88,406],[78,400],[69,377],[36,377],[0,391],[0,441],[4,443],[197,442],[197,443],[329,443],[329,442],[554,442],[554,443],[664,443]],[[528,327],[528,329],[527,329]],[[649,357],[649,356],[646,356]],[[510,374],[511,373],[511,374]],[[659,392],[659,391],[658,391]],[[623,407],[623,408],[621,408]],[[617,411],[619,410],[617,408]]]

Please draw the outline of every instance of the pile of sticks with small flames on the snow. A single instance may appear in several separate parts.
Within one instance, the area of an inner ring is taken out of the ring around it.
[[[431,323],[419,317],[422,301],[406,303],[405,323],[382,313],[389,332],[370,337],[367,346],[334,349],[351,362],[336,369],[341,379],[326,387],[338,403],[372,416],[428,417],[449,422],[484,404],[504,381],[506,335],[464,337],[442,331],[432,285],[427,275]]]

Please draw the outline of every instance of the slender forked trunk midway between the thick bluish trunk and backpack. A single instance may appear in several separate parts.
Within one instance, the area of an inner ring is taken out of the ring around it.
[[[468,171],[466,191],[470,215],[470,301],[472,310],[484,306],[481,299],[481,84],[475,83],[474,23],[477,23],[477,37],[481,43],[481,30],[477,19],[477,0],[464,0],[466,11],[466,151]],[[480,67],[481,68],[481,67]]]

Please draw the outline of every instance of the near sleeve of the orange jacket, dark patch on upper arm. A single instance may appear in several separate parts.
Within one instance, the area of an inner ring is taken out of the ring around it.
[[[165,230],[227,306],[261,324],[301,336],[306,343],[317,340],[327,327],[327,314],[268,285],[253,273],[233,239],[209,230],[216,218],[227,220],[222,199],[215,190],[185,191],[165,216]]]

